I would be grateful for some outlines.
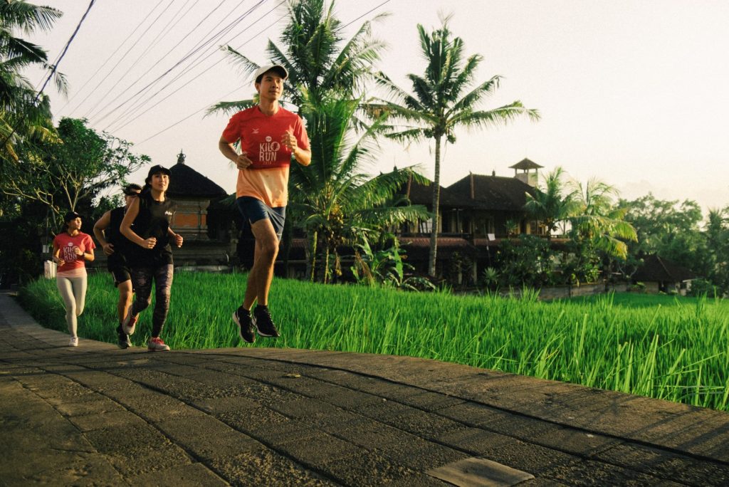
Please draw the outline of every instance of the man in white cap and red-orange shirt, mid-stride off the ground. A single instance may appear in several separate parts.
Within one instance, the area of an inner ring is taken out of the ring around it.
[[[262,337],[280,336],[268,311],[268,291],[286,220],[289,165],[292,157],[301,165],[311,163],[301,118],[278,104],[288,77],[278,64],[258,69],[254,74],[258,105],[234,114],[218,142],[220,152],[238,167],[236,205],[256,241],[243,304],[233,313],[238,333],[247,343],[256,340],[256,331]],[[233,147],[238,141],[240,154]]]

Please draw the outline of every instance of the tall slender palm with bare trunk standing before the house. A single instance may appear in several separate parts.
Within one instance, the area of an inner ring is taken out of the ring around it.
[[[537,110],[526,109],[521,101],[491,110],[478,109],[481,102],[499,87],[501,77],[494,76],[466,93],[474,82],[476,69],[483,58],[464,58],[464,43],[448,29],[450,17],[441,18],[442,26],[426,32],[418,25],[422,54],[427,61],[423,76],[408,74],[413,94],[402,90],[385,74],[378,74],[378,84],[389,90],[391,100],[371,106],[373,113],[384,112],[403,125],[393,127],[392,139],[413,141],[434,139],[435,168],[433,184],[433,225],[430,235],[428,273],[435,276],[438,207],[440,203],[441,144],[456,142],[457,127],[487,128],[510,122],[521,115],[539,119]]]

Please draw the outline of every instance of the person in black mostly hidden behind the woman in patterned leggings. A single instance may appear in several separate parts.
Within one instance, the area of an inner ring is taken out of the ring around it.
[[[119,340],[117,343],[119,348],[129,348],[132,346],[129,335],[122,330],[122,320],[127,315],[127,311],[129,311],[134,294],[131,270],[125,257],[129,253],[132,243],[120,233],[119,227],[122,225],[124,214],[127,212],[132,201],[139,195],[140,191],[141,186],[139,184],[128,184],[125,186],[122,189],[125,206],[106,211],[93,226],[93,233],[96,240],[104,249],[104,254],[106,254],[106,268],[112,273],[114,286],[119,289],[119,301],[117,302],[117,316],[119,318],[119,326],[117,327]]]

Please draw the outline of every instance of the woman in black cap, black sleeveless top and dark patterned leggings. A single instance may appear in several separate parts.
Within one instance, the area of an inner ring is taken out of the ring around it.
[[[139,313],[152,302],[152,281],[155,281],[155,311],[152,313],[150,351],[166,351],[170,347],[160,338],[170,308],[172,287],[172,248],[170,241],[182,246],[182,235],[172,231],[170,222],[175,204],[165,198],[170,184],[170,170],[161,165],[149,169],[144,188],[129,206],[120,227],[122,235],[133,244],[126,256],[132,270],[136,297],[122,322],[122,331],[133,335]]]

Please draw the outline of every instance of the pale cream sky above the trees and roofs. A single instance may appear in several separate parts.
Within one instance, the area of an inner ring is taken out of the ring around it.
[[[461,131],[456,144],[445,149],[444,186],[469,171],[512,176],[509,166],[529,157],[545,166],[542,171],[561,165],[581,182],[596,177],[613,184],[623,198],[653,192],[661,199],[697,200],[704,210],[729,205],[728,123],[722,121],[729,113],[729,1],[390,0],[380,6],[384,1],[339,0],[336,12],[343,23],[354,20],[350,29],[377,13],[391,14],[373,29],[389,44],[377,67],[401,87],[409,90],[405,74],[421,74],[425,66],[416,24],[437,27],[443,11],[453,14],[451,31],[464,40],[467,55],[483,55],[478,79],[504,77],[483,108],[518,99],[542,114],[539,122]],[[64,12],[50,35],[31,38],[53,60],[89,1],[36,3]],[[216,47],[230,44],[254,61],[268,61],[265,42],[278,43],[280,3],[97,0],[60,64],[71,85],[69,99],[46,89],[53,113],[57,119],[87,117],[97,130],[133,142],[136,152],[156,164],[173,165],[182,149],[188,165],[233,192],[235,170],[217,149],[227,117],[203,113],[219,100],[250,98],[254,88]],[[214,47],[174,68],[203,39],[257,4],[215,39]],[[133,98],[168,70],[161,82]],[[28,73],[37,87],[46,76]],[[139,112],[130,114],[141,116],[128,122],[125,111],[136,106]],[[385,143],[370,172],[419,164],[432,177],[431,149],[428,141],[408,148]],[[144,174],[131,179],[141,182]]]

